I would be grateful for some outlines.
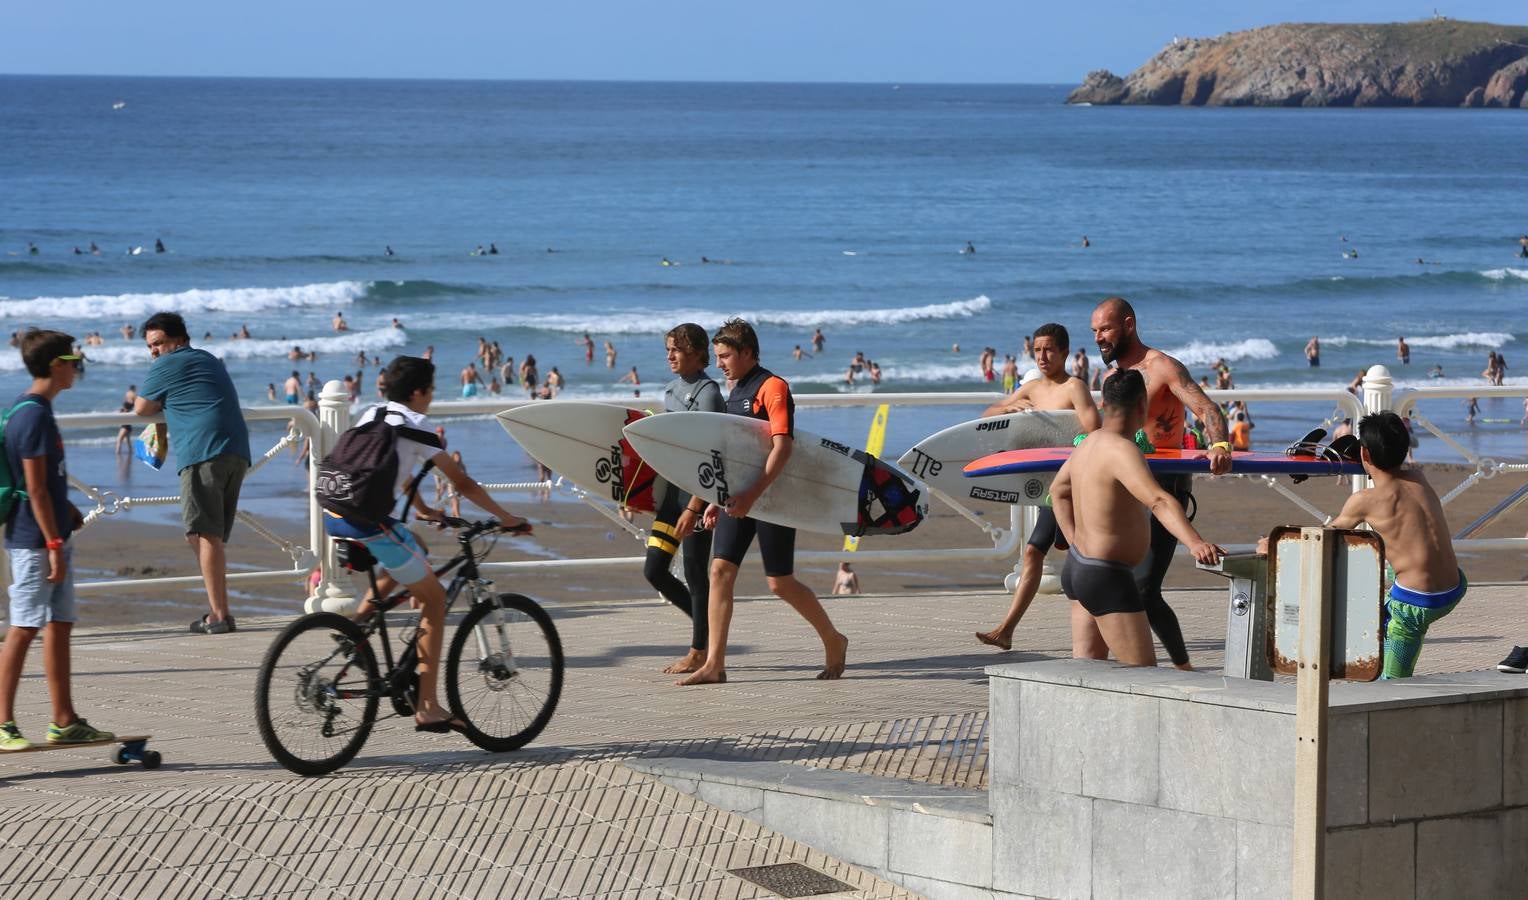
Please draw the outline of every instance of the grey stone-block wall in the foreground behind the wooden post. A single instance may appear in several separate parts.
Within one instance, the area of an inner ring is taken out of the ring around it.
[[[1294,686],[1059,660],[992,675],[992,886],[1288,897]],[[1326,889],[1528,883],[1528,678],[1332,685]]]

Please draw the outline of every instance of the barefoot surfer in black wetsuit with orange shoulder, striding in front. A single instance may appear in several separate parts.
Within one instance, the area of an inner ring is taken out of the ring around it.
[[[726,509],[712,503],[706,507],[703,521],[715,530],[711,561],[711,639],[706,662],[678,685],[720,685],[727,680],[727,630],[732,625],[732,597],[738,582],[738,567],[753,544],[759,541],[759,558],[769,588],[792,605],[822,640],[825,665],[817,672],[819,680],[843,675],[850,639],[833,626],[828,611],[822,608],[817,594],[801,584],[796,568],[796,529],[749,518],[749,510],[764,489],[785,469],[790,461],[796,429],[796,403],[785,379],[759,365],[759,339],[753,325],[743,319],[727,319],[711,339],[717,351],[717,365],[727,380],[733,382],[727,396],[726,411],[733,416],[749,416],[769,422],[770,451],[764,460],[764,472],[752,484],[736,484],[738,490],[726,500]],[[729,486],[732,487],[732,486]]]

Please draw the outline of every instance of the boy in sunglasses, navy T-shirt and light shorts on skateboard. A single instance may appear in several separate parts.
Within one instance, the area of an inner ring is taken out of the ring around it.
[[[5,416],[5,455],[12,483],[24,486],[6,521],[5,547],[11,556],[11,630],[0,649],[0,750],[32,746],[15,723],[15,689],[32,639],[44,626],[43,671],[53,721],[49,744],[108,741],[112,732],[92,727],[75,712],[69,692],[69,634],[75,626],[73,547],[69,536],[84,518],[69,503],[64,439],[53,419],[53,397],[75,387],[79,356],[75,339],[61,332],[28,332],[21,361],[32,374],[26,390]]]

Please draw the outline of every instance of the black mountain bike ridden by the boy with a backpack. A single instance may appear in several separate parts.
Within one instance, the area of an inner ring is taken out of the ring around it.
[[[455,570],[446,588],[446,616],[460,596],[469,599],[445,662],[451,714],[478,747],[515,750],[552,721],[562,694],[562,642],[535,601],[494,593],[492,582],[478,578],[478,562],[497,541],[486,547],[475,542],[498,532],[497,521],[446,516],[443,524],[457,529],[460,544],[458,553],[435,570],[437,578]],[[364,570],[371,596],[379,596],[376,559],[365,546],[345,539],[335,544],[341,565]],[[413,718],[419,616],[396,657],[387,625],[387,613],[408,597],[408,590],[399,590],[373,602],[359,620],[312,613],[281,630],[255,685],[260,738],[277,762],[298,775],[329,775],[350,762],[370,737],[384,697],[396,715]],[[377,668],[373,636],[385,671]]]

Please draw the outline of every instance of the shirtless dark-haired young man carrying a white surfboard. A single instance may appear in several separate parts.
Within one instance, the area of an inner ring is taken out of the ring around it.
[[[1028,338],[1024,339],[1030,342]],[[1076,410],[1077,423],[1083,431],[1099,428],[1099,408],[1093,405],[1093,394],[1088,385],[1074,376],[1067,374],[1067,353],[1071,350],[1071,338],[1063,325],[1054,322],[1034,329],[1034,364],[1041,370],[1041,377],[1025,384],[1012,396],[998,400],[987,408],[983,416],[1004,416],[1024,410]],[[1013,630],[1019,626],[1019,619],[1034,601],[1034,593],[1041,587],[1041,565],[1045,564],[1045,553],[1051,544],[1067,549],[1065,539],[1057,539],[1056,515],[1050,507],[1039,507],[1039,518],[1030,541],[1024,546],[1024,564],[1019,568],[1019,584],[1013,590],[1013,602],[1002,623],[992,631],[978,631],[976,640],[999,649],[1013,648]]]

